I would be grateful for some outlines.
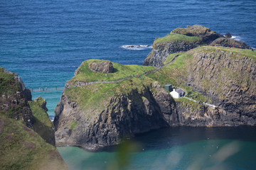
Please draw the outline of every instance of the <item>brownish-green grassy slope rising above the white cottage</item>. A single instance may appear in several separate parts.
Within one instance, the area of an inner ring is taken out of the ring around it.
[[[256,52],[227,47],[197,47],[178,55],[176,61],[148,77],[159,81],[162,85],[173,84],[192,92],[193,89],[213,93],[220,100],[229,98],[227,90],[235,88],[255,94]],[[168,60],[168,58],[167,58]],[[194,86],[185,86],[191,83]],[[233,89],[235,91],[235,89]],[[223,91],[226,91],[223,93]]]

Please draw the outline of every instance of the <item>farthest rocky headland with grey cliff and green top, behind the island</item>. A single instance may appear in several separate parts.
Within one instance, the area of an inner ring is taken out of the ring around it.
[[[168,36],[171,37],[174,35],[183,36],[167,39]],[[188,40],[188,38],[193,37],[201,39]],[[218,38],[224,38],[224,36],[204,26],[194,25],[187,26],[187,28],[176,28],[172,30],[171,33],[166,37],[160,38],[164,39],[164,42],[159,42],[158,39],[154,41],[153,49],[144,60],[144,65],[161,66],[164,64],[166,57],[172,53],[186,52],[198,47],[199,45],[208,45]],[[228,42],[230,41],[232,40],[229,40]],[[214,45],[216,43],[217,42],[215,42]],[[225,43],[225,45],[226,44],[228,43]],[[224,45],[224,43],[218,43],[218,45]]]

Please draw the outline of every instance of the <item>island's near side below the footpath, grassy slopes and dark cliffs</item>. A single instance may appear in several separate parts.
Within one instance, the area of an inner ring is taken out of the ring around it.
[[[250,50],[198,47],[144,77],[65,89],[55,108],[56,145],[116,145],[176,125],[256,125],[255,58]],[[200,102],[174,101],[164,84],[181,87]]]

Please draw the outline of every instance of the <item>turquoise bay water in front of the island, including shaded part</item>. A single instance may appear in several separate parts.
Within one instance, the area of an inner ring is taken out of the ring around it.
[[[58,151],[70,169],[255,169],[255,132],[248,127],[167,128],[130,140],[125,147],[135,147],[134,152],[122,147],[100,152],[58,147]]]

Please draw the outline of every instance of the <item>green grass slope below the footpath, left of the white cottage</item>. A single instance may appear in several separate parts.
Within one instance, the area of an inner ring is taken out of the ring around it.
[[[91,84],[73,87],[65,89],[64,94],[68,96],[70,101],[75,101],[83,110],[86,110],[87,118],[91,118],[104,110],[114,96],[118,98],[119,96],[129,96],[134,93],[143,94],[146,86],[151,82],[152,80],[148,77],[134,77],[117,84]],[[142,101],[142,98],[137,99]]]

